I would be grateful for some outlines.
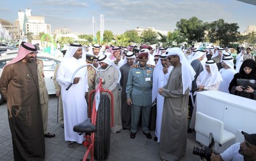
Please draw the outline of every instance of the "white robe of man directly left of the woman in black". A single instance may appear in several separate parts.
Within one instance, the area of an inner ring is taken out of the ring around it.
[[[220,75],[223,79],[223,81],[220,82],[219,91],[223,91],[225,93],[229,93],[228,87],[232,79],[234,78],[235,73],[237,73],[236,70],[233,68],[221,68],[220,69]]]

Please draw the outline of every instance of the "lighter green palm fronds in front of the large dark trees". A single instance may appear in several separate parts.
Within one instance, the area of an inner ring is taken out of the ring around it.
[[[169,31],[166,36],[161,33],[157,34],[161,37],[159,42],[163,43],[163,47],[179,46],[180,43],[186,42],[186,37],[179,30],[175,30],[173,33]]]

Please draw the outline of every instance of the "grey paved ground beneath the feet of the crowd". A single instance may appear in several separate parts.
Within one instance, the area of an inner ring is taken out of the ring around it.
[[[49,120],[48,131],[56,134],[54,138],[45,138],[45,160],[80,160],[83,158],[86,148],[82,145],[76,148],[68,148],[68,142],[64,141],[64,130],[60,123],[57,123],[57,98],[51,96],[49,100]],[[0,105],[0,160],[13,160],[12,139],[8,124],[6,102]],[[154,131],[150,131],[154,138]],[[147,139],[140,130],[135,139],[130,138],[130,130],[122,130],[119,134],[111,134],[109,161],[160,161],[159,143],[154,139]],[[195,132],[188,134],[187,153],[182,160],[199,160],[199,157],[193,155],[193,147],[199,146],[195,141]],[[77,145],[77,144],[76,144]],[[170,145],[172,146],[172,145]]]

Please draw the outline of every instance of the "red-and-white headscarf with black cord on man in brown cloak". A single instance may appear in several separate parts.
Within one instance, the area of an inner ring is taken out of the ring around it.
[[[17,63],[18,61],[24,59],[24,57],[26,57],[30,52],[35,52],[35,51],[37,51],[36,47],[31,43],[28,43],[28,42],[22,43],[20,44],[17,56],[14,57],[11,61],[9,61],[5,66]]]

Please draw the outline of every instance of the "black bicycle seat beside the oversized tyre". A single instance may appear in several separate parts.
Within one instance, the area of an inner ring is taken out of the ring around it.
[[[91,119],[87,118],[83,122],[75,125],[73,131],[78,133],[93,133],[96,132],[96,127],[92,124]]]

